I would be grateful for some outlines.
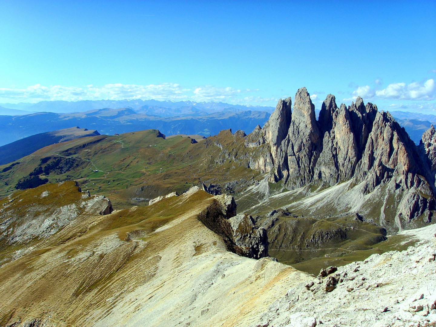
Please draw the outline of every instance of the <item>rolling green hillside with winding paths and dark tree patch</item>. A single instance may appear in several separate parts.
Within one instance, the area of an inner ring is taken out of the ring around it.
[[[161,194],[182,193],[200,182],[230,182],[232,187],[227,191],[235,193],[259,179],[255,170],[234,162],[217,165],[212,160],[221,149],[209,143],[219,140],[229,147],[234,147],[235,142],[243,143],[243,138],[230,131],[194,144],[190,138],[162,136],[150,129],[46,146],[13,164],[0,166],[0,196],[36,174],[50,183],[75,180],[82,190],[105,194],[118,208],[129,208],[146,204]]]

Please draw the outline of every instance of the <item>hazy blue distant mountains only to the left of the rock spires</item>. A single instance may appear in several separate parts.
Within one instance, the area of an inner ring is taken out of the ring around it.
[[[187,113],[194,111],[194,109],[187,108],[185,111],[187,116],[161,117],[148,114],[148,110],[148,108],[136,111],[132,108],[104,108],[87,112],[37,112],[23,116],[0,116],[0,133],[2,135],[0,146],[34,134],[72,126],[96,129],[107,135],[144,129],[159,129],[166,135],[197,134],[209,136],[229,128],[250,132],[258,124],[263,125],[270,116],[269,112],[266,111],[251,110],[221,111],[204,116],[194,116],[194,112],[191,115]],[[150,109],[151,112],[156,110],[158,109]]]

